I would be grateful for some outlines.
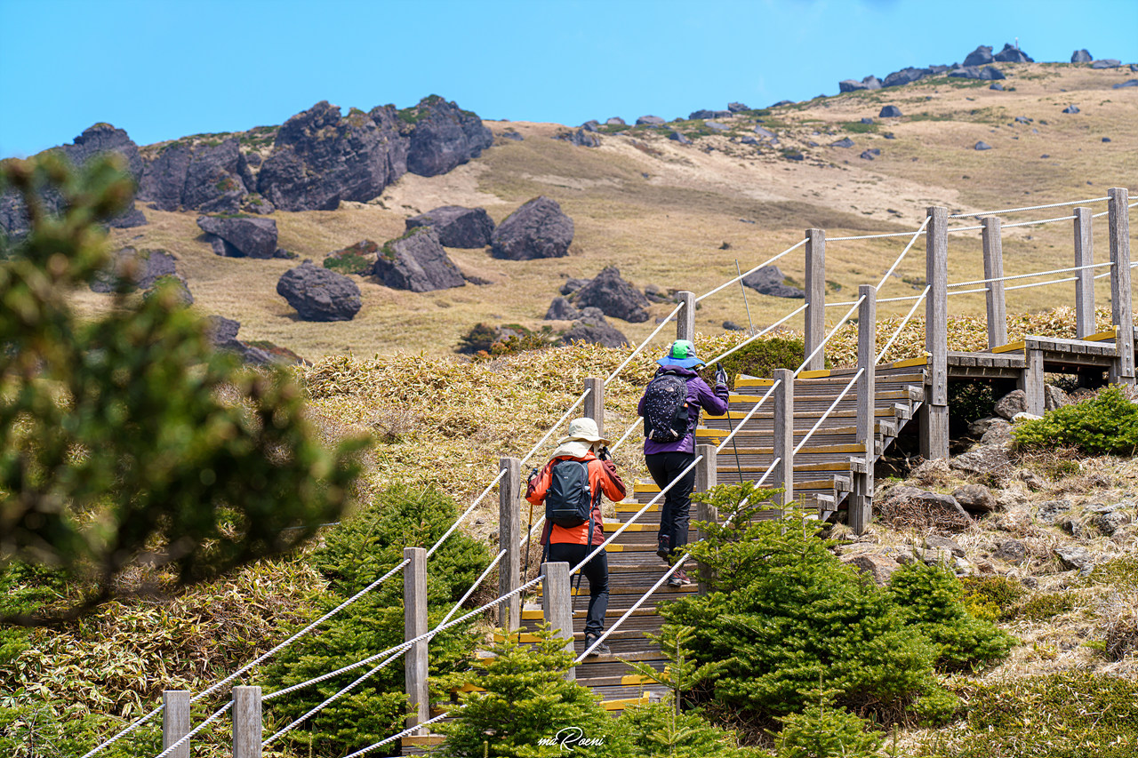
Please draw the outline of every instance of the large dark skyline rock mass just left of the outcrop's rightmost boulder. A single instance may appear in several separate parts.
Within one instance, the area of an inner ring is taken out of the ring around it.
[[[378,197],[407,171],[402,125],[394,106],[341,117],[322,100],[277,132],[257,191],[282,211],[332,211],[340,200]]]

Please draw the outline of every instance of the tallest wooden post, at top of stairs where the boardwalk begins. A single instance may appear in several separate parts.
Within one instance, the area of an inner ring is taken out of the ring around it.
[[[948,458],[948,208],[927,209],[925,236],[925,351],[929,352],[921,455]]]

